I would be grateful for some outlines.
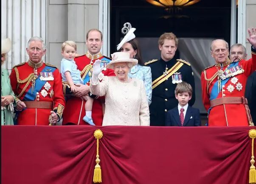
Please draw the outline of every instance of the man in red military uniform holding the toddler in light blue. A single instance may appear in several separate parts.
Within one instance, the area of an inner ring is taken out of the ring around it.
[[[104,109],[104,97],[98,97],[93,94],[90,94],[90,77],[92,74],[92,66],[96,60],[101,60],[101,66],[103,67],[102,73],[99,75],[99,80],[105,76],[114,76],[114,71],[111,69],[106,69],[106,64],[111,61],[110,58],[101,55],[100,49],[102,46],[102,33],[97,29],[91,29],[87,32],[86,35],[86,45],[88,51],[85,55],[76,57],[74,60],[77,65],[77,69],[81,71],[82,80],[84,80],[85,85],[79,85],[78,91],[71,96],[67,102],[66,107],[63,113],[62,125],[85,125],[87,124],[83,121],[85,115],[84,103],[86,101],[83,99],[83,96],[87,93],[94,98],[93,108],[92,108],[92,118],[93,123],[96,126],[102,125]],[[67,84],[63,84],[63,91],[65,94],[70,93],[70,89]]]

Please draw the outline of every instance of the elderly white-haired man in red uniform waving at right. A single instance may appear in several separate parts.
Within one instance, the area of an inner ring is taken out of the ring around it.
[[[249,113],[246,110],[245,85],[248,76],[256,69],[256,28],[248,30],[252,45],[252,58],[228,59],[228,43],[214,40],[211,55],[214,66],[203,70],[201,75],[202,97],[208,110],[209,126],[248,126]]]

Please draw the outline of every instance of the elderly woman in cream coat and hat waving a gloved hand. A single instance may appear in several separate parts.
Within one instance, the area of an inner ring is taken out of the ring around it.
[[[149,106],[143,81],[128,78],[129,69],[138,63],[127,52],[115,52],[106,68],[114,69],[114,77],[102,76],[100,60],[93,64],[90,92],[105,96],[105,114],[102,126],[149,126]],[[99,82],[99,79],[102,79]]]

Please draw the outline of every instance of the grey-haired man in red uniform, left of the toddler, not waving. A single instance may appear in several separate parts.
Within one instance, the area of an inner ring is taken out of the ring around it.
[[[28,62],[13,67],[11,87],[17,96],[18,125],[54,125],[62,118],[65,99],[59,70],[42,62],[42,38],[32,37],[26,48]]]

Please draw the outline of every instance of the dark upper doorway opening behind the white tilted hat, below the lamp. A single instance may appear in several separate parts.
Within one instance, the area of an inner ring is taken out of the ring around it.
[[[159,37],[173,32],[178,38],[224,38],[230,41],[231,0],[201,0],[168,13],[146,0],[110,0],[111,53],[123,37],[121,28],[130,22],[136,37]]]

